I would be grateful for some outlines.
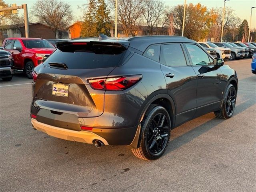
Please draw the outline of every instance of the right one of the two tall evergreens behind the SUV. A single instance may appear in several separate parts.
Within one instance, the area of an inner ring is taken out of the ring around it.
[[[108,9],[105,0],[98,0],[97,14],[96,14],[96,23],[98,33],[105,34],[110,36],[110,10]]]

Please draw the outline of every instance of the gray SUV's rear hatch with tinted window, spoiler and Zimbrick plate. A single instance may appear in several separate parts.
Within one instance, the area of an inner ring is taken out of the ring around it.
[[[127,42],[125,42],[127,43]],[[53,114],[96,117],[104,111],[104,90],[87,82],[106,78],[126,57],[128,45],[116,42],[60,42],[35,71],[33,105]]]

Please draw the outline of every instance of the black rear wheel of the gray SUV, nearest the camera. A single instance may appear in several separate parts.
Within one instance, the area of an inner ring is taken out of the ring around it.
[[[133,154],[143,160],[156,160],[164,154],[170,139],[171,120],[166,109],[150,105],[141,122],[138,148]]]

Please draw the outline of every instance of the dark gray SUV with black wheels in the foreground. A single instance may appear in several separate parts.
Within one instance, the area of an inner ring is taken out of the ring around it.
[[[50,136],[128,145],[155,160],[171,129],[209,112],[234,113],[235,70],[188,38],[100,35],[57,48],[32,72],[31,122]]]

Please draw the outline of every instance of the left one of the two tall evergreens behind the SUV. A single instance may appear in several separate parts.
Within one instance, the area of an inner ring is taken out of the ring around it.
[[[82,37],[98,36],[97,26],[96,26],[96,12],[97,12],[97,2],[96,0],[90,0],[88,4],[88,10],[84,15],[84,22],[82,23],[82,29],[81,29]]]

